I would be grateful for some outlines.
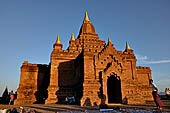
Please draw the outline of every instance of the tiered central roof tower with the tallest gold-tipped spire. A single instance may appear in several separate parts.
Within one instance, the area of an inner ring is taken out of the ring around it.
[[[71,37],[68,51],[81,52],[82,50],[84,50],[86,52],[98,53],[104,47],[105,47],[105,41],[99,40],[99,37],[95,33],[95,29],[91,24],[86,11],[79,35],[75,41],[73,36]]]

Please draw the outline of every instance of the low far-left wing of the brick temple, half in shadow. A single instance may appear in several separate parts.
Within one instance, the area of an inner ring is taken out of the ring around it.
[[[45,88],[49,82],[49,67],[47,65],[29,64],[25,61],[21,67],[20,84],[17,90],[17,104],[33,104],[43,102],[47,98]]]

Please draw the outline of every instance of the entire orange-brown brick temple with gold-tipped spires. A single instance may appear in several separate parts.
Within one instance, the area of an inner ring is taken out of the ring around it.
[[[81,106],[145,104],[153,100],[151,70],[136,66],[136,61],[127,42],[118,51],[110,38],[100,40],[86,12],[68,49],[62,49],[57,36],[49,65],[23,62],[15,104],[64,103],[66,96],[74,96]]]

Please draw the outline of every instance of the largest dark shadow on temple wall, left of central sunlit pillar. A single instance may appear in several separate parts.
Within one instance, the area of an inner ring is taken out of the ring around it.
[[[66,97],[74,97],[80,105],[83,95],[83,63],[81,54],[74,60],[62,62],[58,68],[58,103],[66,103]]]

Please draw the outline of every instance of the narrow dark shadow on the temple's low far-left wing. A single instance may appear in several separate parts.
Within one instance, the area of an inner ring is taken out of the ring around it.
[[[50,82],[50,64],[38,64],[37,91],[35,92],[36,101],[34,104],[45,104],[48,98],[48,86]]]

